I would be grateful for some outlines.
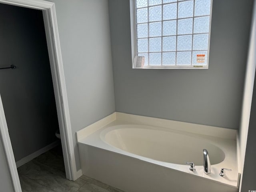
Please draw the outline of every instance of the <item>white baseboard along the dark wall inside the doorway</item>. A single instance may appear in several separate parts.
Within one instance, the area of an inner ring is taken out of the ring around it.
[[[34,152],[34,153],[24,157],[24,158],[22,158],[21,160],[18,160],[16,162],[17,168],[22,166],[22,165],[24,165],[24,164],[26,164],[27,162],[31,161],[32,159],[38,157],[39,155],[47,152],[48,150],[56,147],[58,144],[59,144],[59,141],[57,140],[57,141],[51,143],[50,145],[45,146],[44,148],[42,148],[42,149],[40,149],[40,150],[38,150],[38,151],[36,151],[36,152]]]

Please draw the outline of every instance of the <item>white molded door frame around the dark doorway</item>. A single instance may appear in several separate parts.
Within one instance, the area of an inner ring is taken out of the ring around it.
[[[62,56],[60,52],[60,41],[58,35],[55,5],[53,2],[48,2],[45,0],[0,0],[0,3],[42,10],[43,12],[46,40],[50,58],[50,67],[52,72],[52,81],[54,86],[54,95],[56,100],[58,122],[60,127],[62,150],[64,155],[66,177],[70,180],[76,180],[78,178],[78,175],[76,171],[72,130],[68,110],[68,99],[66,93],[66,84],[64,80]],[[8,162],[10,175],[14,185],[14,191],[22,192],[17,167],[14,159],[14,154],[12,150],[12,144],[8,133],[8,126],[6,123],[1,95],[0,136],[2,138],[4,151],[6,154],[6,160]]]

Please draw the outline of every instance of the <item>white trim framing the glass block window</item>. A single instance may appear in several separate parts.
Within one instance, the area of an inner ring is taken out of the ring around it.
[[[132,48],[132,68],[133,69],[208,69],[209,58],[210,58],[210,38],[211,38],[211,26],[212,26],[212,0],[210,9],[210,23],[209,23],[209,40],[208,40],[208,51],[207,51],[207,65],[204,66],[143,66],[141,68],[135,67],[134,63],[137,54],[137,42],[136,42],[136,0],[130,0],[130,25],[131,25],[131,48]]]

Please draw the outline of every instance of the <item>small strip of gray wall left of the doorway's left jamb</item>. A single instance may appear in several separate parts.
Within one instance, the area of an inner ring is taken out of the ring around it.
[[[8,170],[4,147],[2,145],[2,139],[0,137],[0,191],[2,192],[13,192],[14,189],[12,187],[12,180],[10,177],[10,172]]]

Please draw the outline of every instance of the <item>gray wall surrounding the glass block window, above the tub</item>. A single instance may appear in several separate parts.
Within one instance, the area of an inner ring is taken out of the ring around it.
[[[116,111],[238,129],[252,3],[213,0],[208,70],[141,70],[129,0],[109,0]]]

